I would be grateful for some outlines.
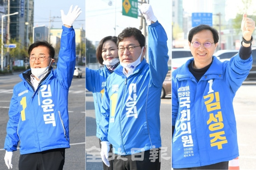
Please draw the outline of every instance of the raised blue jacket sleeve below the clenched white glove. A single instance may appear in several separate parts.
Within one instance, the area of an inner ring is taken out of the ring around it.
[[[168,60],[167,35],[157,21],[148,26],[148,63],[155,86],[163,86],[168,72]]]

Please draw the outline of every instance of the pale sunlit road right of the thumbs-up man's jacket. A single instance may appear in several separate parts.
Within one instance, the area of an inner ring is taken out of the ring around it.
[[[240,170],[256,167],[256,81],[244,81],[233,101],[239,145]]]

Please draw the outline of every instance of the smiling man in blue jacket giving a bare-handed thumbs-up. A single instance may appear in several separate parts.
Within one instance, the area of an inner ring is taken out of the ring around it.
[[[173,169],[227,170],[239,156],[233,98],[252,68],[255,22],[243,15],[239,53],[223,63],[213,56],[218,32],[190,30],[193,58],[172,72]]]

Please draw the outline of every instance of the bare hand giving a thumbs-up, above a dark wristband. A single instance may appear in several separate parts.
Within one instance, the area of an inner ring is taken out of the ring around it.
[[[255,21],[253,21],[251,18],[248,18],[247,14],[244,14],[243,20],[241,22],[241,30],[245,40],[247,41],[251,40],[254,29],[255,29]]]

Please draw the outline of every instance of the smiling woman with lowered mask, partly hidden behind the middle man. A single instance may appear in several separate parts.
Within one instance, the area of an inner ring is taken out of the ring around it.
[[[105,81],[108,76],[114,71],[116,66],[119,65],[118,50],[116,45],[117,37],[108,36],[104,37],[96,50],[96,58],[100,64],[104,65],[102,69],[89,69],[86,68],[86,89],[93,92],[93,100],[96,115],[96,136],[99,138],[101,131],[99,130],[99,123],[101,119],[100,108],[102,104],[102,97],[104,93]],[[99,140],[99,142],[101,142]],[[101,145],[100,145],[101,146]],[[111,147],[112,148],[112,147]],[[111,152],[111,150],[110,150]],[[111,166],[107,167],[103,164],[104,170],[112,170]]]

